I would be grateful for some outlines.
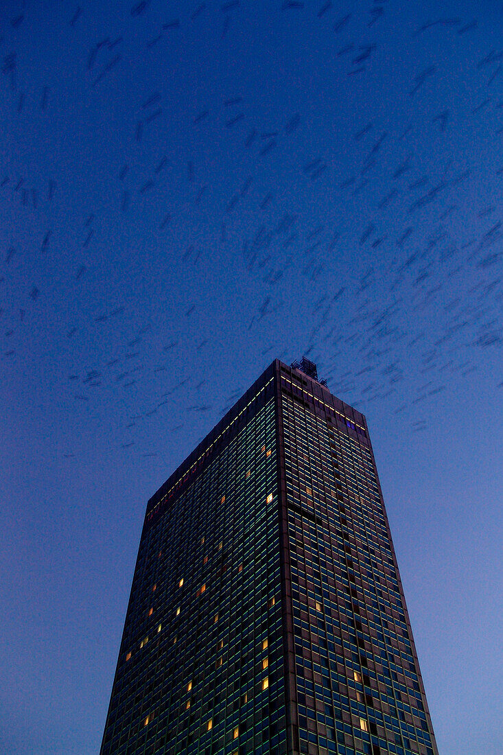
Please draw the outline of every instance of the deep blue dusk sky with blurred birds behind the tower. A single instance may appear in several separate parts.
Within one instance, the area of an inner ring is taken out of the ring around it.
[[[99,751],[148,498],[305,354],[499,755],[503,3],[80,2],[0,3],[0,752]]]

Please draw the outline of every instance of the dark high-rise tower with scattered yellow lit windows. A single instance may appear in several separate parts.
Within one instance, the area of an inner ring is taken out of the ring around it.
[[[366,419],[309,360],[150,499],[101,753],[437,753]]]

